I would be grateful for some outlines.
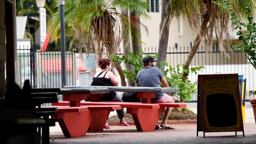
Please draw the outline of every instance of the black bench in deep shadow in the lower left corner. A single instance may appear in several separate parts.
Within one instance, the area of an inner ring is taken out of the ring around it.
[[[37,127],[42,127],[42,143],[49,144],[49,126],[56,119],[49,118],[56,108],[37,107],[42,103],[58,102],[57,92],[42,92],[30,89],[25,81],[23,89],[15,83],[7,85],[5,98],[0,100],[0,143],[12,140],[20,144],[39,144]]]

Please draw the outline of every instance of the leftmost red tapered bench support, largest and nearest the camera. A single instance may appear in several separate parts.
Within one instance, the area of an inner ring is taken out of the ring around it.
[[[59,126],[65,137],[78,137],[86,134],[91,123],[90,111],[64,112],[57,114]]]

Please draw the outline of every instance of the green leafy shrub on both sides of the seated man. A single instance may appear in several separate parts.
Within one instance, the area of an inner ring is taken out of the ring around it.
[[[149,56],[149,55],[147,55]],[[157,58],[159,54],[150,55],[154,58]],[[125,78],[128,78],[132,81],[135,81],[137,73],[139,70],[143,69],[143,50],[139,50],[136,52],[136,54],[132,52],[128,52],[127,55],[123,55],[122,57],[119,57],[117,55],[110,55],[110,59],[113,62],[117,62],[121,64],[124,62],[125,65],[133,65],[134,68],[131,70],[123,70]],[[187,73],[195,73],[197,74],[197,71],[204,68],[204,66],[198,66],[198,67],[192,67],[192,68],[185,68],[185,64],[183,64],[182,70],[180,70],[180,65],[177,65],[176,67],[169,65],[167,62],[162,62],[158,64],[158,67],[162,70],[163,75],[165,76],[169,87],[177,87],[178,93],[171,93],[172,96],[180,96],[180,102],[188,102],[191,100],[191,94],[193,92],[197,92],[197,82],[192,83],[189,79],[186,79],[185,81],[182,81],[182,72]],[[161,85],[163,87],[163,85]]]

